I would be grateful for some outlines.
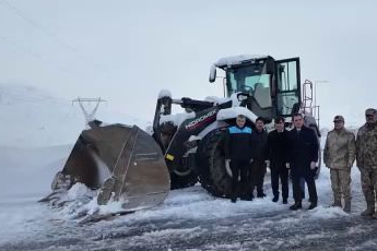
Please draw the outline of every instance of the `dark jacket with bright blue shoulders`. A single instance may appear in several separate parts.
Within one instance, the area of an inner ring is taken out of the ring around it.
[[[225,158],[232,160],[247,160],[251,158],[251,129],[236,125],[226,130]]]

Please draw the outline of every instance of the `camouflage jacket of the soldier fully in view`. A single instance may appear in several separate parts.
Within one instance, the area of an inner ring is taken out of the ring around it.
[[[323,150],[323,163],[327,167],[351,170],[355,157],[355,135],[352,132],[342,129],[328,133]]]

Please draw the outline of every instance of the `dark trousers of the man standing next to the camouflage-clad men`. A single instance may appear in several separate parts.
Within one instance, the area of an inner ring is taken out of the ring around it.
[[[301,186],[301,179],[304,178],[305,182],[308,187],[309,191],[309,199],[311,203],[318,202],[317,196],[317,189],[316,189],[316,182],[314,179],[314,172],[307,171],[308,174],[298,175],[297,169],[292,169],[292,186],[293,186],[293,198],[295,199],[295,202],[302,202],[303,201],[303,191]]]

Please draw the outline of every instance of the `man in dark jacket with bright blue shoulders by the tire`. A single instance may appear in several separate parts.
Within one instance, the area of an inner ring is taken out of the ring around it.
[[[236,125],[228,128],[225,134],[225,165],[232,170],[232,202],[237,198],[251,201],[249,195],[249,170],[251,159],[251,128],[245,127],[246,118],[238,115]],[[240,193],[238,193],[238,176],[240,176]]]

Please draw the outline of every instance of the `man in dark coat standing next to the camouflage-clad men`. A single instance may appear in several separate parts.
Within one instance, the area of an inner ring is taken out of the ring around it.
[[[290,208],[296,211],[303,207],[299,179],[304,178],[309,191],[310,206],[308,210],[313,210],[318,202],[315,175],[319,144],[314,130],[304,125],[304,118],[301,113],[293,116],[293,123],[295,128],[288,133],[288,166],[292,172],[295,204]]]

